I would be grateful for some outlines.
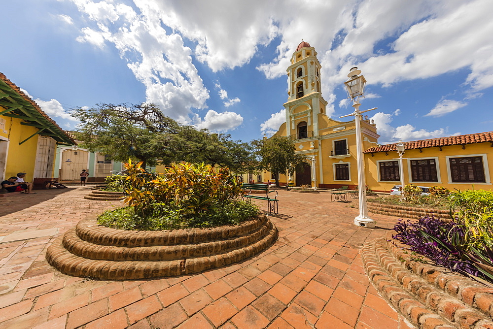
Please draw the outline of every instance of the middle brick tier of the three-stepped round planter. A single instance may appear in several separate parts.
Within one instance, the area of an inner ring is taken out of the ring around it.
[[[71,254],[92,260],[116,262],[172,261],[217,255],[225,251],[243,248],[261,240],[270,230],[272,230],[272,224],[269,221],[257,230],[233,239],[172,246],[115,247],[84,241],[77,236],[75,229],[71,229],[65,233],[62,244]]]

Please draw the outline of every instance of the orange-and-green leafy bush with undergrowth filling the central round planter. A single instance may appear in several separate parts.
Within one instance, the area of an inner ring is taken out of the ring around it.
[[[99,223],[112,228],[166,230],[238,224],[258,213],[241,200],[242,182],[228,168],[175,164],[146,180],[141,163],[125,164],[125,210],[106,212]],[[118,213],[116,213],[118,212]]]

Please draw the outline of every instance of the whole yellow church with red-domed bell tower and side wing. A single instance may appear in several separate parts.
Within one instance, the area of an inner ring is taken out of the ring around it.
[[[307,156],[307,162],[296,167],[294,177],[286,178],[293,180],[295,186],[354,186],[357,184],[354,120],[342,122],[327,116],[327,101],[320,89],[320,70],[315,48],[302,41],[286,70],[286,122],[277,134],[289,136],[297,153]],[[361,121],[361,132],[363,149],[378,145],[376,125],[367,118]]]

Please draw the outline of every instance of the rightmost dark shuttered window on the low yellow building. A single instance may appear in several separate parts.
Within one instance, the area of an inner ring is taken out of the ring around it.
[[[486,183],[483,157],[450,158],[450,174],[456,183]]]

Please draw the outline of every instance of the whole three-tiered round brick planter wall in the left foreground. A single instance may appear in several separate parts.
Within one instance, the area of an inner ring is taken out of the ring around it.
[[[277,236],[263,213],[239,225],[163,231],[115,230],[87,219],[53,241],[46,260],[64,274],[81,277],[176,276],[242,261],[267,249]]]

